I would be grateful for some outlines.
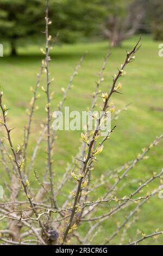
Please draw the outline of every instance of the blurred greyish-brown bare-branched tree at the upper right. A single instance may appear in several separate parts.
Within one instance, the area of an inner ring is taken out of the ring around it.
[[[108,17],[102,26],[103,34],[110,40],[111,47],[120,46],[122,41],[134,35],[141,27],[146,14],[146,0],[103,0]]]

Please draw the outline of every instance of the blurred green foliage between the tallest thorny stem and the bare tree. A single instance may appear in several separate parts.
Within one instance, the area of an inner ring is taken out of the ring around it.
[[[75,42],[92,35],[106,16],[106,9],[101,0],[51,0],[52,17],[59,39]]]

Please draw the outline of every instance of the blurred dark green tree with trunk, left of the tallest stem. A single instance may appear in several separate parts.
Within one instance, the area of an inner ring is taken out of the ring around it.
[[[43,27],[42,0],[0,0],[0,35],[16,55],[16,42],[20,38],[36,34]],[[41,26],[42,25],[42,26]]]

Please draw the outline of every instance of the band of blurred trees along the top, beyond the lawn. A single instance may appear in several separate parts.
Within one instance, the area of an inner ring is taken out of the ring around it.
[[[58,44],[108,40],[121,46],[135,33],[163,39],[161,0],[51,0],[50,5],[51,33],[59,33]],[[0,1],[1,41],[8,42],[12,55],[18,45],[42,40],[44,10],[43,0]]]

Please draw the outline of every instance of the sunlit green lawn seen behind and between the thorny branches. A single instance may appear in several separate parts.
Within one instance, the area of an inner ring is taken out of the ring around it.
[[[111,51],[107,68],[104,72],[104,83],[101,90],[105,92],[111,85],[112,75],[123,62],[126,56],[126,50],[130,50],[135,45],[137,37],[127,40],[121,48]],[[143,36],[142,47],[136,54],[135,62],[127,67],[127,75],[121,80],[123,95],[116,94],[113,100],[116,109],[121,109],[128,103],[130,106],[127,112],[123,112],[120,118],[112,122],[112,126],[117,125],[117,129],[112,134],[111,140],[105,144],[103,154],[99,157],[93,175],[99,176],[106,170],[115,169],[118,166],[132,160],[141,152],[141,149],[147,147],[153,142],[156,136],[161,135],[162,118],[163,118],[163,59],[158,56],[159,42],[153,42],[148,36]],[[98,79],[98,72],[104,60],[105,53],[108,51],[108,42],[93,42],[89,44],[62,45],[56,46],[52,52],[51,73],[55,77],[53,90],[55,99],[52,104],[52,110],[55,110],[58,102],[61,100],[61,87],[66,87],[68,80],[77,64],[80,56],[87,52],[78,76],[73,82],[73,89],[68,94],[65,106],[70,109],[84,111],[91,105],[91,93],[95,90],[95,81]],[[16,127],[12,133],[15,143],[21,144],[23,139],[23,126],[26,125],[26,108],[29,105],[31,93],[30,86],[35,85],[36,73],[39,71],[40,60],[42,58],[40,46],[28,46],[20,48],[20,55],[11,58],[6,54],[0,59],[1,90],[4,92],[4,101],[9,111],[9,123]],[[43,85],[41,81],[41,86]],[[32,141],[29,145],[29,156],[34,148],[36,138],[39,136],[41,120],[46,116],[44,110],[46,99],[40,89],[41,98],[37,102],[39,111],[35,114],[32,127]],[[159,111],[158,111],[159,109]],[[59,138],[55,145],[54,170],[56,176],[64,173],[67,162],[70,162],[72,156],[76,155],[79,147],[80,131],[59,132]],[[152,176],[153,172],[160,172],[163,167],[161,142],[154,148],[149,159],[142,161],[139,165],[131,170],[126,179],[125,187],[118,196],[128,195],[134,191],[136,184],[131,184],[131,179],[144,179]],[[45,145],[42,145],[42,149]],[[40,150],[35,167],[39,174],[44,172],[46,153]],[[3,173],[3,171],[1,171]],[[31,179],[34,182],[33,175]],[[57,177],[55,177],[57,179]],[[148,190],[158,188],[159,184],[154,182]],[[67,187],[66,191],[70,188]],[[99,198],[104,191],[98,191]],[[64,198],[63,194],[62,198]],[[94,199],[96,199],[94,198]],[[140,229],[143,233],[153,233],[156,228],[163,230],[163,201],[156,195],[149,204],[146,204],[139,213],[139,222],[134,224],[133,229],[129,229],[129,237],[135,237],[136,230]],[[109,208],[109,205],[105,210]],[[103,223],[101,233],[94,240],[95,243],[102,243],[104,237],[108,237],[111,230],[115,230],[117,221],[122,222],[127,212],[124,210],[117,218],[110,219]],[[87,227],[83,225],[82,232]],[[84,233],[83,233],[84,234]],[[117,242],[118,237],[114,240]],[[163,244],[163,237],[158,240],[147,240],[144,244]],[[113,242],[113,243],[114,243]]]

